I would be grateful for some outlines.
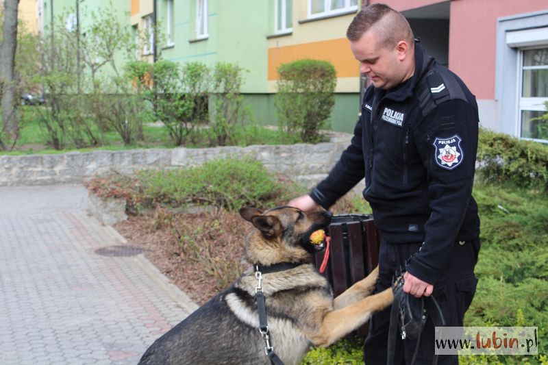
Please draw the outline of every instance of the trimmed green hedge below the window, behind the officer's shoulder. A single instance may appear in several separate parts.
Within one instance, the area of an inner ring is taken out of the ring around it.
[[[482,130],[477,161],[488,182],[548,190],[548,146]]]

